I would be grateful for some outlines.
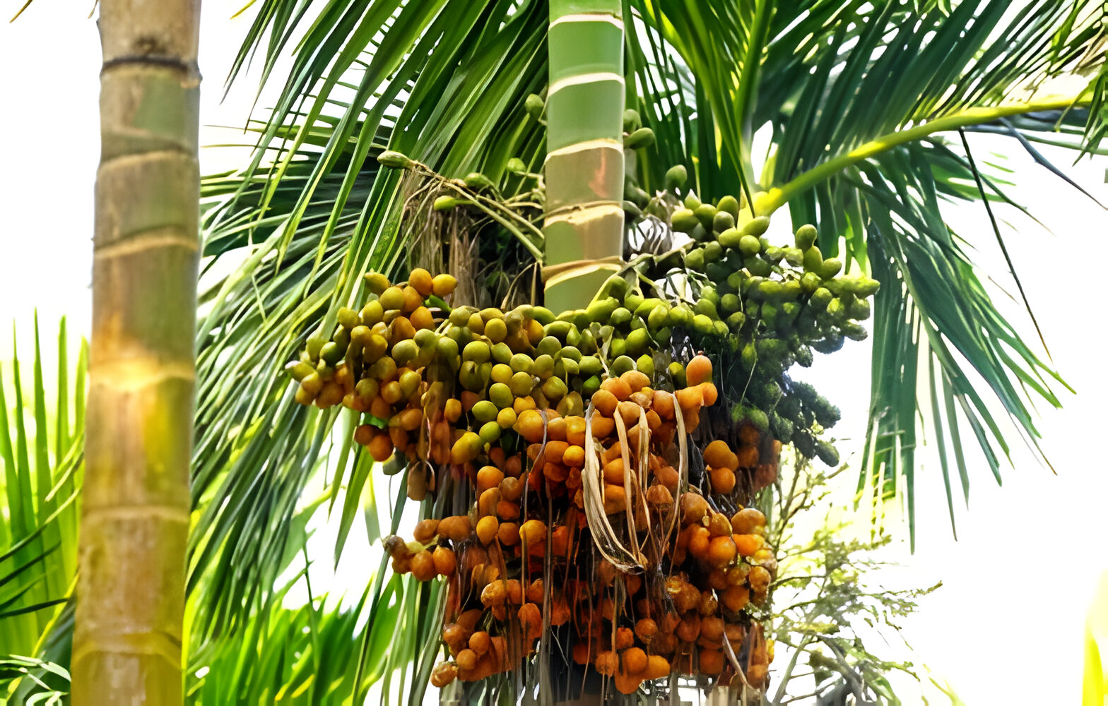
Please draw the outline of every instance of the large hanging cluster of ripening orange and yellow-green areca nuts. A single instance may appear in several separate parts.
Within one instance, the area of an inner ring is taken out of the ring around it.
[[[780,443],[716,409],[707,355],[613,346],[582,312],[451,305],[455,284],[371,273],[367,303],[288,365],[297,402],[359,415],[360,453],[428,501],[384,548],[394,572],[447,584],[431,683],[545,648],[624,694],[675,672],[761,684],[772,644],[751,606],[777,565],[745,503]]]

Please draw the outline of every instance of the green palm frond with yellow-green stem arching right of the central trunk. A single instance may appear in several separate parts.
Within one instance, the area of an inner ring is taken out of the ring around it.
[[[652,45],[639,52],[638,86],[644,101],[657,105],[666,104],[659,87],[670,87],[665,97],[675,105],[664,114],[646,111],[644,122],[659,145],[686,145],[683,162],[697,166],[701,196],[738,194],[742,180],[714,168],[748,155],[750,137],[714,124],[718,105],[727,101],[700,100],[714,90],[709,81],[719,82],[718,68],[688,48],[690,30],[678,32],[681,3],[643,4],[639,35]],[[735,21],[717,7],[721,3],[702,4],[700,12],[714,13],[714,42],[749,31],[750,23]],[[957,139],[964,129],[1006,135],[1016,149],[1046,143],[1075,154],[1100,152],[1091,91],[1036,93],[1051,77],[1104,65],[1098,9],[1095,2],[1061,0],[776,3],[755,74],[752,127],[772,129],[758,185],[768,196],[760,204],[769,210],[787,204],[794,226],[819,226],[824,256],[842,253],[848,267],[869,268],[886,284],[873,326],[871,421],[860,484],[880,479],[878,495],[889,497],[903,476],[913,534],[916,426],[929,387],[944,391],[940,394],[951,403],[929,416],[936,435],[946,430],[940,443],[943,467],[953,450],[967,491],[960,424],[974,432],[997,479],[1009,447],[991,404],[976,391],[989,388],[1038,449],[1030,405],[1042,398],[1058,406],[1047,382],[1064,385],[999,315],[970,259],[972,249],[946,225],[944,209],[952,204],[1012,204],[996,170],[974,166],[970,143],[960,148],[947,138]],[[743,100],[736,83],[741,65],[725,71],[730,103]],[[690,129],[697,123],[707,129]],[[1064,177],[1054,165],[1044,166]],[[665,169],[649,159],[640,167],[653,170],[644,179],[655,180]],[[1002,233],[993,237],[1003,249]],[[1009,276],[1018,288],[1018,276]],[[1025,309],[1034,329],[1030,302]],[[922,360],[937,366],[917,365],[920,346],[931,356]],[[950,491],[948,474],[945,482]]]

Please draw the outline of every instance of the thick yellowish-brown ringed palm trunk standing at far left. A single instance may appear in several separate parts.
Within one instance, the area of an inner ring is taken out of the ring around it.
[[[74,706],[182,703],[199,0],[103,0]]]

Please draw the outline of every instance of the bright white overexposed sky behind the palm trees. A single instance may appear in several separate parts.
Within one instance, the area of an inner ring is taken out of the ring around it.
[[[223,80],[247,28],[246,20],[229,19],[240,7],[237,1],[205,6],[201,68],[202,122],[207,125],[242,125],[253,100],[255,84],[244,82],[227,102],[219,102]],[[18,4],[8,3],[6,11]],[[95,24],[86,17],[91,8],[91,1],[40,0],[14,24],[0,24],[0,241],[7,262],[0,277],[0,351],[11,346],[6,322],[14,320],[21,332],[30,333],[34,309],[45,335],[62,315],[71,330],[89,331],[100,68]],[[235,139],[227,131],[202,131],[202,144]],[[978,144],[983,150],[1002,144],[1006,146],[998,148],[1014,149],[1007,143]],[[203,172],[240,164],[227,152],[205,150]],[[1067,164],[1064,153],[1048,155],[1060,166]],[[901,538],[893,553],[903,568],[889,572],[888,581],[896,586],[943,581],[942,589],[923,600],[920,614],[905,621],[904,635],[916,651],[912,660],[948,681],[967,704],[1020,704],[1039,695],[1048,695],[1046,700],[1054,704],[1076,704],[1084,615],[1097,578],[1108,570],[1108,469],[1095,443],[1108,399],[1100,350],[1100,266],[1108,219],[1025,155],[1009,156],[1022,184],[1012,193],[1053,232],[1005,211],[1004,217],[1013,219],[1004,226],[1008,248],[1054,361],[1077,390],[1077,395],[1063,395],[1060,412],[1040,407],[1044,448],[1057,476],[1015,448],[1014,467],[1005,468],[1004,487],[998,488],[979,457],[967,449],[973,488],[970,510],[962,502],[956,506],[955,542],[937,461],[924,449],[917,456],[916,551],[909,552],[899,510],[890,507],[890,529]],[[985,155],[977,157],[984,160]],[[1106,163],[1084,160],[1069,168],[1102,203],[1108,203]],[[982,260],[1003,264],[983,212],[951,211],[948,219],[974,239]],[[1010,312],[1028,333],[1018,308],[1010,307]],[[843,422],[835,432],[847,440],[840,449],[847,460],[856,460],[866,417],[868,344],[855,343],[822,359],[807,377],[842,408]],[[840,502],[849,501],[850,491],[843,489]],[[321,563],[328,563],[330,548],[324,543],[320,551]],[[353,562],[361,563],[358,558]],[[343,583],[362,575],[360,568],[340,567],[339,573]],[[904,695],[912,703],[910,692]]]

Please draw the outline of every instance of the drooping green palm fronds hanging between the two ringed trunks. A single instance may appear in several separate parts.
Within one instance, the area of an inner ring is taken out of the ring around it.
[[[267,61],[280,50],[301,17],[280,6],[263,8],[244,52],[266,33]],[[254,164],[205,180],[205,255],[243,263],[202,293],[198,640],[266,604],[297,500],[330,448],[338,415],[295,404],[281,367],[308,332],[335,325],[339,305],[357,304],[363,272],[418,255],[399,229],[410,185],[372,157],[388,146],[448,176],[494,180],[512,157],[537,165],[543,131],[523,104],[544,85],[545,30],[538,2],[332,3],[297,45]],[[335,100],[342,83],[357,89]],[[349,435],[331,450],[357,467]]]

